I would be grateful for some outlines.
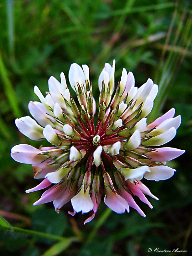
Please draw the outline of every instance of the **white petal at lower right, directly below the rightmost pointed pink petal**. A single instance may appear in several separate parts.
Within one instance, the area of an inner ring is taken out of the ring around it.
[[[176,171],[175,169],[172,169],[171,167],[165,166],[165,165],[159,165],[159,166],[153,166],[149,167],[150,172],[146,172],[144,174],[144,177],[147,180],[167,180]]]

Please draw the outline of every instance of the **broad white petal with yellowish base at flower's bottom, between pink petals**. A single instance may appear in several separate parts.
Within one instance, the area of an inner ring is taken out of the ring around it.
[[[89,195],[89,188],[84,193],[84,186],[79,193],[71,199],[71,204],[76,212],[90,212],[93,209],[93,202]]]

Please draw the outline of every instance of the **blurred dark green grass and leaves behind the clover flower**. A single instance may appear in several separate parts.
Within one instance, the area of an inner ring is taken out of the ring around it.
[[[0,218],[0,255],[142,256],[178,247],[188,250],[182,255],[192,255],[191,7],[191,2],[166,0],[0,2],[0,215],[8,221]],[[42,192],[24,191],[39,181],[31,165],[13,161],[10,149],[40,143],[23,136],[14,120],[29,114],[28,102],[37,100],[34,85],[44,93],[50,76],[59,79],[64,72],[68,80],[73,62],[89,65],[97,99],[99,74],[113,59],[116,82],[126,68],[138,86],[148,77],[159,84],[148,120],[174,107],[182,124],[168,146],[186,153],[169,163],[177,169],[170,180],[144,181],[160,199],[149,199],[153,210],[136,201],[146,218],[132,208],[116,214],[102,202],[84,226],[85,214],[68,215],[70,203],[59,215],[52,203],[32,206]]]

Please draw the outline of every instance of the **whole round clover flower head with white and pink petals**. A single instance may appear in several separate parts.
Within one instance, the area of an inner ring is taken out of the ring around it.
[[[26,191],[47,189],[34,205],[53,201],[59,213],[71,201],[72,215],[92,211],[87,223],[104,196],[105,204],[117,213],[129,212],[132,207],[145,216],[134,196],[151,208],[145,195],[158,198],[140,180],[166,180],[174,174],[166,162],[184,150],[159,146],[174,138],[180,116],[173,117],[172,108],[148,124],[158,86],[149,78],[137,88],[132,72],[127,74],[125,68],[115,86],[114,75],[115,60],[112,67],[106,63],[99,76],[97,118],[87,65],[81,68],[73,63],[69,69],[69,83],[77,101],[71,96],[64,73],[61,82],[50,77],[46,97],[35,86],[40,102],[31,101],[28,108],[36,121],[24,116],[15,124],[31,140],[47,140],[52,145],[36,149],[21,144],[11,153],[14,160],[32,164],[35,179],[44,179]]]

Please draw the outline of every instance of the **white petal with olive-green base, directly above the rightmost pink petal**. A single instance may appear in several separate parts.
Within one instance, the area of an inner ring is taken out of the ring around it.
[[[143,142],[143,145],[146,146],[160,146],[160,145],[164,145],[165,143],[169,142],[170,140],[172,140],[176,135],[176,130],[174,127],[172,127],[171,129],[169,129],[168,131],[157,135],[145,142]]]

